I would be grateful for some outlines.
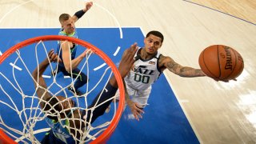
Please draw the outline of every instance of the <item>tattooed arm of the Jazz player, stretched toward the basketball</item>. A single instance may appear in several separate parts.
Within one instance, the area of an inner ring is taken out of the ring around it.
[[[206,76],[201,69],[194,69],[188,66],[181,66],[170,57],[161,56],[159,58],[159,66],[161,70],[166,68],[181,77],[202,77]]]

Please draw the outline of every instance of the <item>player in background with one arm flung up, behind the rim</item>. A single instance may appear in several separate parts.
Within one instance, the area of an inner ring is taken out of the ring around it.
[[[86,2],[86,7],[83,10],[79,10],[72,17],[70,14],[61,14],[59,16],[59,22],[61,23],[61,30],[58,35],[78,38],[78,33],[75,29],[74,23],[86,13],[87,10],[90,10],[90,7],[93,6],[93,2]],[[77,95],[82,95],[82,92],[78,90],[79,87],[83,86],[87,82],[86,74],[80,73],[78,65],[82,62],[82,59],[86,57],[86,50],[76,57],[77,45],[72,42],[58,41],[57,54],[59,54],[60,62],[58,67],[54,70],[54,74],[58,74],[59,71],[62,71],[64,75],[71,74],[73,78],[77,78],[73,86],[69,86],[69,90]],[[71,58],[71,61],[70,61]],[[80,73],[80,74],[79,74]]]

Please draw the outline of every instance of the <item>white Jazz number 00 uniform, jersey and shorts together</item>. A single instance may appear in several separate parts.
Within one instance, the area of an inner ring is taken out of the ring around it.
[[[131,97],[132,102],[144,108],[150,96],[151,85],[158,79],[162,71],[158,68],[158,59],[160,53],[155,54],[153,58],[143,60],[140,58],[141,49],[135,54],[136,61],[126,76],[126,89]],[[127,98],[126,98],[127,99]]]

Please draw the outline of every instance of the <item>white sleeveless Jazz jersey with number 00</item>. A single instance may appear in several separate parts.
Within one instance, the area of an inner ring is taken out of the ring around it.
[[[136,58],[142,49],[138,49],[134,58]],[[134,62],[134,66],[130,70],[129,74],[126,76],[126,85],[130,86],[135,90],[146,90],[148,89],[162,74],[161,70],[158,68],[158,58],[160,53],[157,53],[154,58],[149,60],[142,60],[138,58]]]

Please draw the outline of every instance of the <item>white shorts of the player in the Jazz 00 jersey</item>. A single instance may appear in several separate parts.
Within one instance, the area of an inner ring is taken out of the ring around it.
[[[134,90],[130,86],[126,85],[126,89],[130,96],[130,100],[133,102],[138,102],[141,108],[144,108],[146,105],[148,105],[147,100],[150,97],[151,86],[146,90]],[[116,93],[116,98],[119,99],[119,96],[120,92],[118,90]]]

